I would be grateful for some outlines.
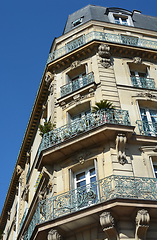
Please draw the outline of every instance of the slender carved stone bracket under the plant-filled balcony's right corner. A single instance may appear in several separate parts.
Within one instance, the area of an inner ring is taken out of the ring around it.
[[[126,145],[126,135],[123,133],[119,133],[116,138],[116,150],[117,150],[117,158],[120,164],[125,164],[126,154],[125,154],[125,145]]]

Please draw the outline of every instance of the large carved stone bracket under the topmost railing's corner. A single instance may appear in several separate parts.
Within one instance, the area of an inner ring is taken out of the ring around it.
[[[98,55],[101,58],[101,65],[105,68],[109,68],[111,66],[110,47],[107,44],[101,44],[98,48]]]

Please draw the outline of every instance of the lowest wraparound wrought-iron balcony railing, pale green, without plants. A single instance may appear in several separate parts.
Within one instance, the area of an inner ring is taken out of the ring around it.
[[[39,202],[24,240],[29,240],[36,225],[111,199],[157,201],[157,179],[113,175]]]

